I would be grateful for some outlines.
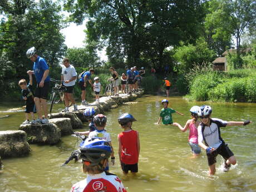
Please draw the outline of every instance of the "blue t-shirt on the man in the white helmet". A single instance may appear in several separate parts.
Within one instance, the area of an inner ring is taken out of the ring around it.
[[[43,73],[48,70],[49,67],[44,58],[37,57],[36,62],[34,62],[33,70],[36,76],[37,83],[40,83],[43,78]],[[50,81],[50,76],[48,75],[45,79],[45,82]]]

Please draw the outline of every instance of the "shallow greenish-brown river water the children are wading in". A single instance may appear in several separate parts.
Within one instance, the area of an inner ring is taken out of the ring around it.
[[[205,152],[191,158],[187,143],[188,132],[181,132],[171,125],[155,125],[161,110],[160,96],[144,96],[131,105],[120,106],[106,112],[106,129],[111,134],[116,153],[116,165],[110,172],[117,174],[129,192],[140,191],[256,191],[255,123],[248,126],[221,128],[221,136],[237,157],[238,164],[228,173],[221,170],[223,160],[217,158],[215,176],[208,176]],[[188,102],[181,97],[170,97],[170,107],[184,116],[173,115],[175,122],[184,125],[190,118],[189,109],[203,102]],[[213,117],[227,121],[256,122],[256,104],[209,103]],[[0,104],[0,111],[18,107],[17,104]],[[56,111],[62,107],[56,106]],[[117,117],[129,112],[137,119],[133,129],[139,131],[141,152],[139,173],[133,177],[122,174],[117,155],[117,134],[121,132]],[[0,130],[17,130],[24,120],[23,112],[0,112]],[[85,129],[87,125],[85,124]],[[30,145],[27,157],[4,159],[0,172],[0,191],[70,191],[71,185],[85,178],[79,163],[60,165],[71,154],[76,138],[65,136],[58,145]]]

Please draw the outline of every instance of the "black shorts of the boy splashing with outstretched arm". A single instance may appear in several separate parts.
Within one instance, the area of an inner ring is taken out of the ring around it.
[[[218,149],[211,152],[210,154],[206,154],[208,158],[208,165],[215,164],[217,155],[221,155],[225,160],[229,159],[229,157],[233,156],[233,152],[229,149],[228,144],[221,144]]]

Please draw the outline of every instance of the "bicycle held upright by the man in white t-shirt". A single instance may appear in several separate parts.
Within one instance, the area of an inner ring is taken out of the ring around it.
[[[51,78],[50,81],[55,83],[55,85],[52,88],[52,93],[51,93],[51,96],[50,96],[50,104],[51,104],[50,114],[51,114],[53,104],[58,104],[59,102],[63,101],[64,106],[66,107],[65,99],[64,99],[64,91],[66,91],[66,87],[62,85],[63,81],[58,81],[58,80],[55,80],[53,78]],[[68,107],[70,107],[71,105],[72,105],[72,103],[70,102],[68,104]]]

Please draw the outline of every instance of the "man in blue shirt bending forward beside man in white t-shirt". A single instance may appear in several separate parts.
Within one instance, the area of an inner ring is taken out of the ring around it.
[[[87,82],[89,82],[91,84],[91,86],[93,87],[93,84],[91,82],[91,74],[94,73],[94,70],[93,68],[90,68],[89,71],[86,71],[82,74],[80,80],[79,80],[79,83],[78,85],[80,86],[81,88],[81,91],[82,91],[82,94],[81,94],[81,99],[82,99],[82,104],[81,105],[86,105],[88,104],[86,101],[85,101],[85,97],[86,97],[86,86],[87,86]]]

